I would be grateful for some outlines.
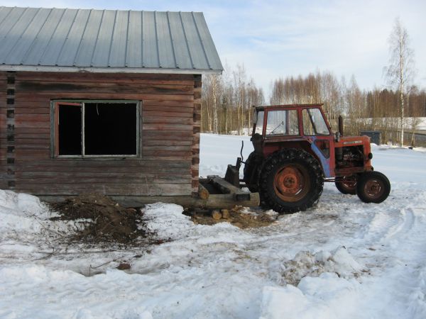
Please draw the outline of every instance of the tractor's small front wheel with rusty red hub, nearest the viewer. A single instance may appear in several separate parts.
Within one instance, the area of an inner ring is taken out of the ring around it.
[[[356,194],[364,203],[381,203],[390,192],[391,183],[381,172],[364,172],[356,183]]]

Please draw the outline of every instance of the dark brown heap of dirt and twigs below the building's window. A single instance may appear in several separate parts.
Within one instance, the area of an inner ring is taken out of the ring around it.
[[[71,240],[129,244],[140,237],[153,235],[146,231],[141,210],[121,207],[107,196],[70,197],[48,206],[60,215],[51,220],[74,220],[76,226],[78,223],[77,233]]]

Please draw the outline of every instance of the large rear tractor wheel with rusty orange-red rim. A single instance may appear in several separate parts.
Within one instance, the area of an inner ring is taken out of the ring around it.
[[[279,150],[263,164],[259,193],[263,206],[278,213],[305,211],[315,205],[324,186],[317,159],[298,149]]]

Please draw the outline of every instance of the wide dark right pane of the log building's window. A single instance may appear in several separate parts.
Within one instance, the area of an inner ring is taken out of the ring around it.
[[[136,155],[136,103],[84,103],[85,155]]]

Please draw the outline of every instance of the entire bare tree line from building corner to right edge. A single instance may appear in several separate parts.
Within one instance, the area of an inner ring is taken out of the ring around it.
[[[219,76],[203,77],[202,132],[242,134],[251,128],[251,106],[266,103],[263,90],[248,79],[244,66]],[[400,92],[392,89],[361,90],[356,79],[337,79],[332,72],[275,79],[268,104],[323,103],[329,123],[337,130],[339,115],[345,118],[345,133],[381,131],[381,142],[397,142],[400,123]],[[405,94],[406,144],[413,144],[413,132],[426,117],[426,91],[411,86]]]

